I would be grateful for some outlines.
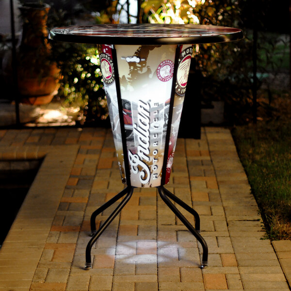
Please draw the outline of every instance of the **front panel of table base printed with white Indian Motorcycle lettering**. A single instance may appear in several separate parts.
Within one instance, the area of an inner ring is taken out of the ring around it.
[[[131,185],[160,186],[177,46],[115,48]]]

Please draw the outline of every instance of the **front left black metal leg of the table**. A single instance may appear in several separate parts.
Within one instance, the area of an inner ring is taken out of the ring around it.
[[[119,205],[115,208],[115,210],[110,214],[110,216],[106,219],[104,224],[100,226],[97,232],[94,234],[92,239],[88,242],[86,247],[86,264],[85,270],[89,270],[92,268],[92,261],[91,261],[91,249],[93,244],[97,241],[99,236],[103,233],[103,231],[112,223],[113,219],[117,216],[117,214],[123,209],[123,207],[129,202],[129,199],[133,192],[133,187],[127,187],[125,190],[127,195],[125,198],[119,203]],[[116,197],[116,196],[115,196]]]

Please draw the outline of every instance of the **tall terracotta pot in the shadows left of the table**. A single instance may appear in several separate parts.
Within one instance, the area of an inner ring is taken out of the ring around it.
[[[47,4],[37,3],[25,3],[19,8],[23,25],[17,47],[17,75],[22,103],[48,104],[60,86],[60,69],[52,61],[48,43],[49,9]],[[11,53],[4,57],[3,68],[11,78]]]

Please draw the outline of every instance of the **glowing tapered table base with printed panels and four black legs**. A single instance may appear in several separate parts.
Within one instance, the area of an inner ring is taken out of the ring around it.
[[[163,187],[170,179],[193,46],[101,45],[98,50],[117,161],[128,186],[92,214],[93,237],[86,247],[85,268],[92,268],[93,244],[127,204],[135,187],[157,187],[165,204],[201,243],[201,268],[205,268],[208,246],[199,234],[198,213]],[[122,197],[96,230],[97,215]],[[194,215],[195,227],[171,200]]]

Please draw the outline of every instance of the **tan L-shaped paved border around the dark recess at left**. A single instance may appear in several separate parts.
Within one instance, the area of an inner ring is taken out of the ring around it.
[[[7,281],[9,286],[2,288],[16,288],[18,281],[23,286],[24,279],[27,281],[25,285],[31,286],[79,147],[0,147],[2,161],[44,158],[1,248],[0,274],[11,277]]]

